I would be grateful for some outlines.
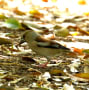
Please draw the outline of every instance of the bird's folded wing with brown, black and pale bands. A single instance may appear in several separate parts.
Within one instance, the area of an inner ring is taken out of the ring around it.
[[[62,46],[58,42],[43,37],[38,37],[36,41],[38,47],[69,50],[69,48]]]

